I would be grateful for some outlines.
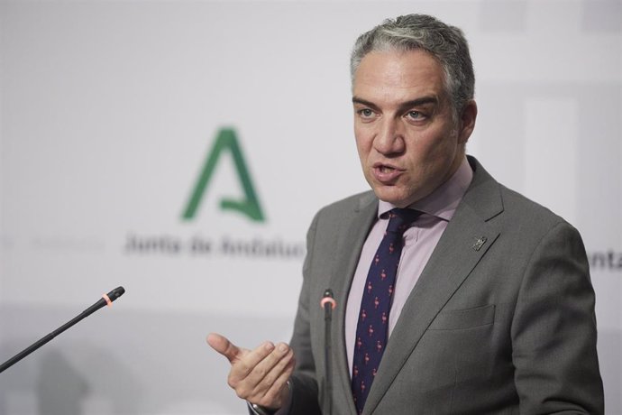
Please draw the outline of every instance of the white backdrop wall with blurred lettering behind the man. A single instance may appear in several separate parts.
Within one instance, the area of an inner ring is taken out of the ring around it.
[[[352,42],[415,12],[471,42],[469,152],[581,230],[622,414],[622,2],[599,0],[1,1],[0,362],[127,293],[0,374],[0,414],[242,413],[205,336],[288,340],[306,226],[367,188]],[[229,152],[182,219],[222,128],[265,222],[220,207]]]

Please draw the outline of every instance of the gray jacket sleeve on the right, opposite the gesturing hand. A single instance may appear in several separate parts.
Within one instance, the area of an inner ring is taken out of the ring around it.
[[[531,255],[511,336],[520,413],[604,413],[588,260],[565,222]]]

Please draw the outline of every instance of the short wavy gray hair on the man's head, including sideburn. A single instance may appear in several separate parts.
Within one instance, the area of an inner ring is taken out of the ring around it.
[[[361,60],[370,51],[423,50],[438,60],[444,69],[445,88],[452,100],[453,110],[462,112],[475,92],[475,75],[469,54],[469,44],[462,30],[449,26],[433,16],[407,14],[387,19],[354,43],[350,60],[352,82]],[[457,115],[457,114],[456,114]]]

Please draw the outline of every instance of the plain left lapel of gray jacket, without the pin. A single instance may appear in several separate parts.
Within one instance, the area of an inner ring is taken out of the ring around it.
[[[334,290],[335,300],[337,300],[337,312],[332,327],[332,337],[334,339],[334,367],[336,374],[334,378],[335,393],[342,393],[348,401],[349,411],[356,413],[354,402],[352,401],[352,389],[350,386],[350,367],[345,349],[345,309],[350,292],[350,286],[354,278],[356,266],[359,263],[362,245],[370,232],[378,215],[378,199],[372,192],[365,193],[359,200],[352,215],[343,222],[343,232],[339,232],[335,258],[337,260],[334,273],[331,277],[331,286]],[[340,391],[341,389],[341,391]]]

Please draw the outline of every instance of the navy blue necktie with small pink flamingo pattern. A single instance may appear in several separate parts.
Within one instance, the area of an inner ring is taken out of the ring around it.
[[[389,337],[389,310],[404,231],[419,215],[421,212],[412,209],[394,208],[389,211],[389,226],[367,274],[352,361],[352,395],[359,414],[367,401]]]

